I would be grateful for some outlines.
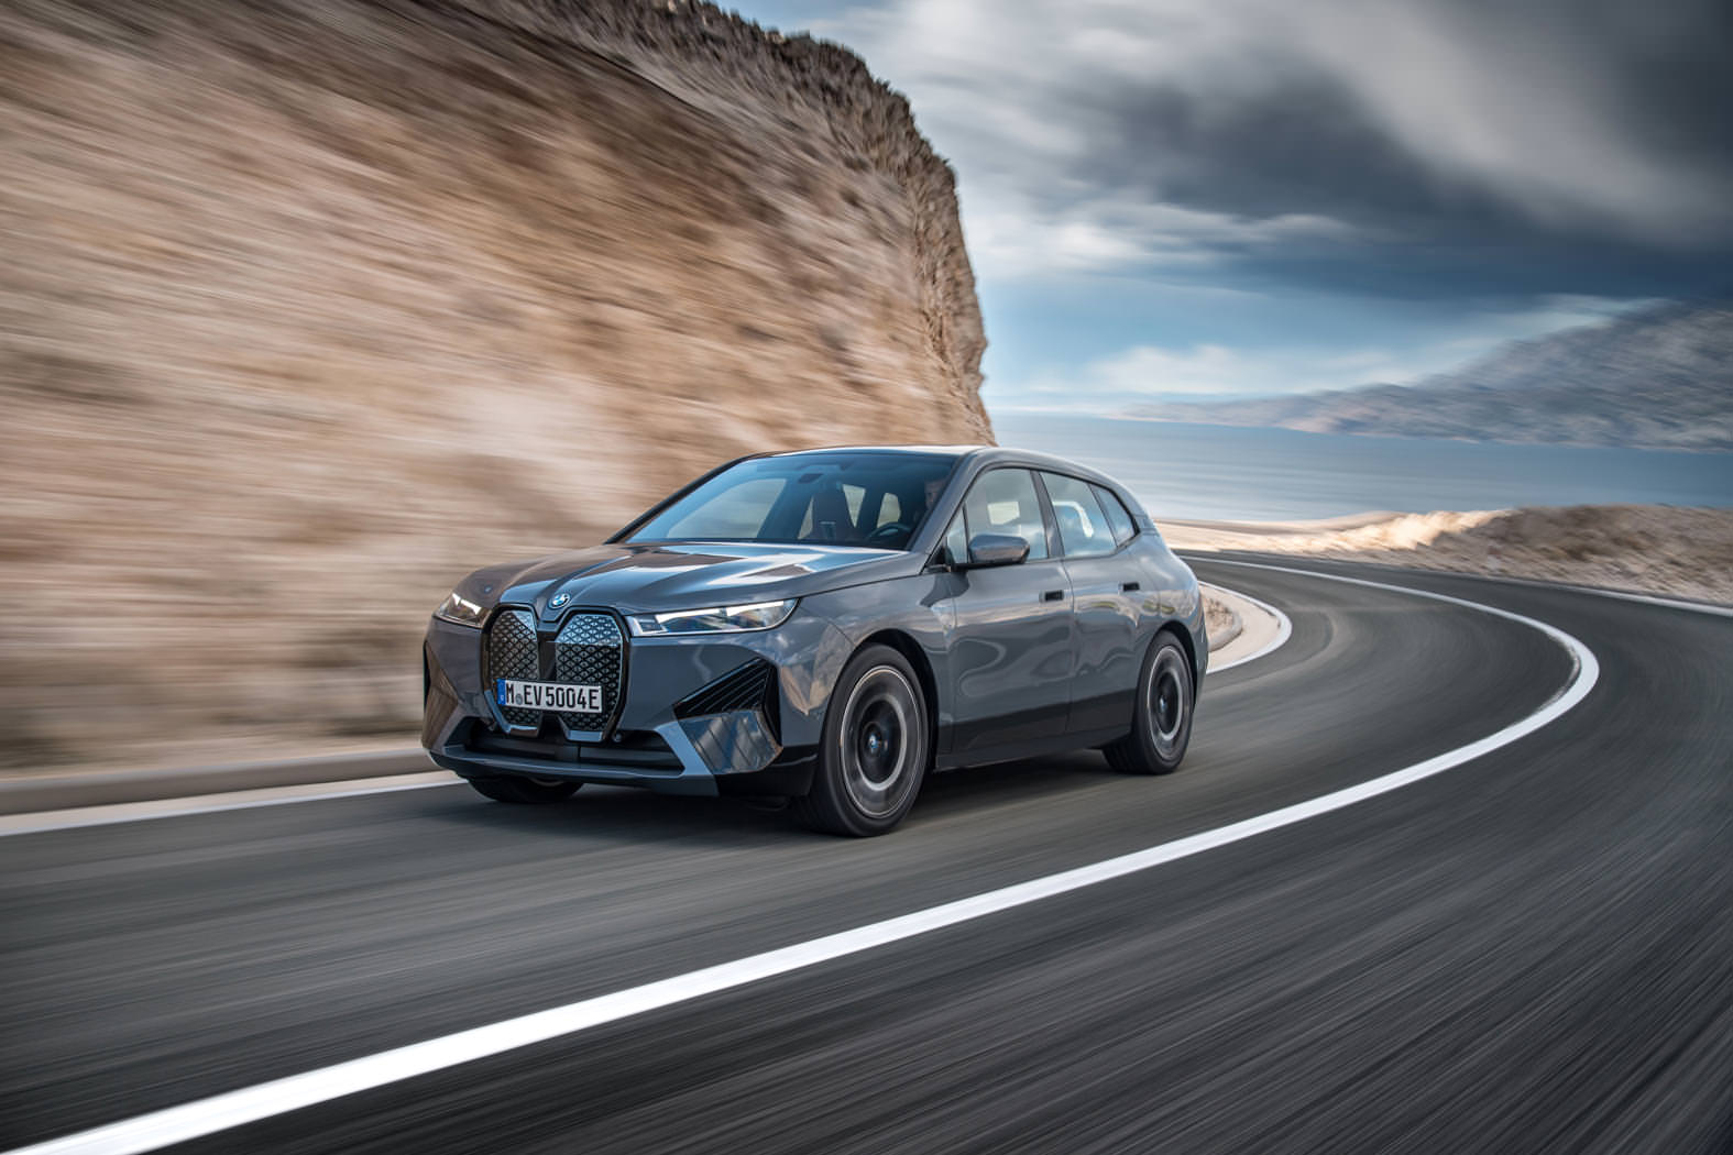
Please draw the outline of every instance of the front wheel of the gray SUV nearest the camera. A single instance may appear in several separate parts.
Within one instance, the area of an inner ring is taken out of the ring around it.
[[[795,816],[828,835],[894,829],[920,793],[929,726],[908,660],[889,646],[861,649],[830,693],[813,790],[794,800]]]

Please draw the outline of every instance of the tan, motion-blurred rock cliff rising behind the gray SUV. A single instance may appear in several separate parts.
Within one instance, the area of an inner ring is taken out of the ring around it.
[[[991,440],[908,104],[709,5],[12,0],[0,170],[12,765],[399,734],[475,565]]]

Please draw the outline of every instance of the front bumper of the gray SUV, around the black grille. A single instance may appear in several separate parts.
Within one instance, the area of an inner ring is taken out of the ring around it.
[[[560,623],[535,629],[549,641]],[[487,632],[433,618],[423,649],[421,745],[464,778],[527,774],[685,795],[806,793],[823,707],[847,660],[834,625],[797,613],[775,630],[626,636],[624,648],[624,686],[600,729],[574,732],[553,713],[532,729],[510,724],[490,700]]]

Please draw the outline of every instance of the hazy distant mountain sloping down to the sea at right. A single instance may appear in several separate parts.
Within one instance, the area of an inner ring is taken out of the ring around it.
[[[1513,343],[1412,386],[1137,405],[1126,416],[1312,433],[1733,450],[1733,303],[1626,313]]]

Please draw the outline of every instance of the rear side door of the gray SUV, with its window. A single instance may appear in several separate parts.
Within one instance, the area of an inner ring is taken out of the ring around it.
[[[1130,729],[1144,661],[1140,603],[1147,596],[1135,563],[1121,552],[1135,530],[1118,499],[1088,481],[1043,471],[1042,485],[1059,528],[1076,620],[1078,665],[1066,729]]]

